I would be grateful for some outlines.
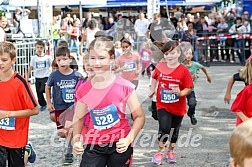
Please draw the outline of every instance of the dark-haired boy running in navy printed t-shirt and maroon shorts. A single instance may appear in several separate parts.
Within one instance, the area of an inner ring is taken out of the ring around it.
[[[59,122],[59,117],[63,112],[73,111],[75,87],[80,74],[70,68],[71,58],[67,47],[59,47],[56,50],[56,63],[59,69],[50,74],[46,84],[46,99],[48,111],[55,113],[58,134],[62,138],[69,137],[68,128]],[[53,88],[51,102],[51,88]],[[67,122],[67,120],[65,120]],[[69,120],[70,122],[72,120]],[[73,163],[73,154],[71,142],[68,143],[68,149],[65,154],[64,165]]]

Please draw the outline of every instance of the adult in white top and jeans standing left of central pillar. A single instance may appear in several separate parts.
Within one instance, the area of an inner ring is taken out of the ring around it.
[[[135,22],[135,32],[137,34],[137,51],[140,52],[142,43],[146,40],[146,32],[149,22],[144,17],[144,13],[139,14],[139,19]]]

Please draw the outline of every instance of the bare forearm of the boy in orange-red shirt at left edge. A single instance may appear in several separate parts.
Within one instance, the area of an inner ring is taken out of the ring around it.
[[[26,110],[18,110],[18,111],[3,111],[0,112],[0,119],[4,118],[24,118],[29,117],[32,115],[38,115],[39,108],[38,106],[34,107],[33,109],[26,109]]]

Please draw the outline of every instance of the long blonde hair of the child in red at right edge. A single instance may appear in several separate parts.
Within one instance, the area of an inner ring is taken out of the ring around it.
[[[240,78],[242,78],[245,83],[252,83],[252,57],[250,56],[243,69],[240,70]]]

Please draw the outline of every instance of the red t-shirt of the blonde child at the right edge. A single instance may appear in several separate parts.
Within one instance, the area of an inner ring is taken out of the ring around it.
[[[237,94],[231,106],[231,110],[233,112],[243,112],[247,117],[252,117],[252,84],[247,85]],[[240,125],[242,122],[241,118],[237,117],[236,126]]]

